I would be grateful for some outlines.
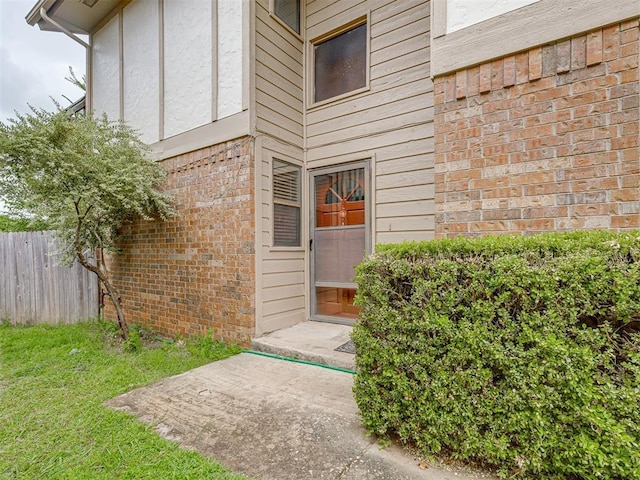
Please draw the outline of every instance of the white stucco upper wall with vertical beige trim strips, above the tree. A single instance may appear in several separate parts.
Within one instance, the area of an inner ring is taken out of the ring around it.
[[[150,144],[242,112],[247,2],[121,7],[92,34],[91,108],[122,117]]]

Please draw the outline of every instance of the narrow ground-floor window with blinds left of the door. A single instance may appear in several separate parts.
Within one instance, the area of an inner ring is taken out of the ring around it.
[[[301,168],[273,159],[273,246],[300,247]]]

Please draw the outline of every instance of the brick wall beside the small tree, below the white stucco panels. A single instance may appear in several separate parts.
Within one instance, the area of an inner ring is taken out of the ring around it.
[[[163,162],[178,215],[127,225],[123,254],[110,259],[130,324],[174,337],[211,330],[248,345],[255,326],[252,148],[245,137]]]

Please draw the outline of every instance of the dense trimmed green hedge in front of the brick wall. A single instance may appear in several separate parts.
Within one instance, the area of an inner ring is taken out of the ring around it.
[[[383,245],[356,278],[372,433],[504,477],[640,478],[640,232]]]

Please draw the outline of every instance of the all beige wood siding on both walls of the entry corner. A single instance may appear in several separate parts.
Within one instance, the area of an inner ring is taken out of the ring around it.
[[[307,2],[307,42],[357,18],[370,26],[369,88],[305,110],[309,44],[255,3],[253,124],[257,165],[256,335],[307,319],[307,169],[371,159],[377,242],[432,238],[433,84],[425,0]],[[306,147],[306,149],[305,149]],[[302,245],[274,248],[272,162],[304,166]]]

